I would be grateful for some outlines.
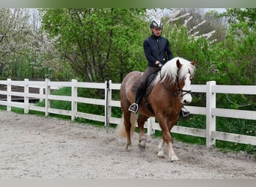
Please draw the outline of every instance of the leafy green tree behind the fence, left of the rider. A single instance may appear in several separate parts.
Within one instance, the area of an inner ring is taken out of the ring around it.
[[[144,9],[50,9],[42,25],[84,81],[121,82],[142,61]]]

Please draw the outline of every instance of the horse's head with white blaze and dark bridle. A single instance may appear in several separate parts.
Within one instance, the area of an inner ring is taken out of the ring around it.
[[[177,58],[177,86],[180,93],[180,101],[186,105],[192,102],[191,82],[194,75],[195,61],[186,61],[183,58]]]

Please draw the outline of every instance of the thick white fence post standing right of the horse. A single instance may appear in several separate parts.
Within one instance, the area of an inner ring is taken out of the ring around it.
[[[206,103],[206,144],[210,147],[216,143],[212,138],[212,132],[216,131],[216,116],[212,114],[212,108],[216,108],[216,93],[213,93],[215,81],[207,82],[207,103]]]

